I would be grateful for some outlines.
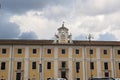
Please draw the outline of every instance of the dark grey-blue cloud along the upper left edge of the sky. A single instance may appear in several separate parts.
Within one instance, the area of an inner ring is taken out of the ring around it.
[[[2,0],[2,9],[10,13],[24,13],[29,10],[41,10],[48,5],[64,5],[69,0]]]

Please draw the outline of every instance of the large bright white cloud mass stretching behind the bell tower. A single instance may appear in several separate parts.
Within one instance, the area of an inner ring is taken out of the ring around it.
[[[18,24],[22,32],[34,31],[40,39],[54,37],[61,22],[65,21],[73,39],[89,33],[99,39],[100,35],[109,33],[120,40],[119,7],[120,0],[76,0],[70,8],[67,4],[47,6],[42,11],[15,15],[11,21]]]

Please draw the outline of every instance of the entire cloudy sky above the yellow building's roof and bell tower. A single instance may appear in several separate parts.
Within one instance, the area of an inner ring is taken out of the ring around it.
[[[0,39],[53,39],[65,22],[74,40],[120,40],[120,0],[0,0]]]

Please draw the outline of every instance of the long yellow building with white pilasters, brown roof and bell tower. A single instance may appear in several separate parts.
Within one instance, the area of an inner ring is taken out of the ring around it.
[[[1,80],[120,78],[120,42],[72,40],[62,24],[54,40],[0,40]]]

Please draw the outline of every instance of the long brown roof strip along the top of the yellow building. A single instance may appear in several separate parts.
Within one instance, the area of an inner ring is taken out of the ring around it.
[[[54,40],[0,40],[0,45],[65,45],[89,46],[89,41],[73,40],[73,43],[53,43]],[[91,46],[120,46],[120,41],[91,41]]]

